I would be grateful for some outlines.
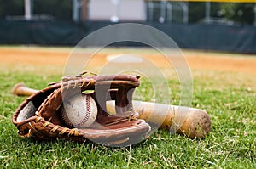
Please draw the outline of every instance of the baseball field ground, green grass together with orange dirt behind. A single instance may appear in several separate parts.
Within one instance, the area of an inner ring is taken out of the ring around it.
[[[20,138],[12,115],[26,97],[13,96],[12,87],[24,82],[28,87],[41,89],[49,82],[59,81],[72,51],[73,48],[0,47],[1,168],[256,168],[253,54],[183,50],[193,77],[191,106],[206,110],[211,116],[211,132],[206,138],[191,139],[159,130],[143,142],[125,148]],[[97,72],[110,55],[131,53],[143,54],[160,69],[168,69],[165,59],[152,49],[106,48],[91,60],[90,71]],[[178,105],[180,82],[175,73],[166,80],[172,91],[167,99]],[[148,89],[151,85],[142,80],[138,87],[142,96],[137,99],[153,101]]]

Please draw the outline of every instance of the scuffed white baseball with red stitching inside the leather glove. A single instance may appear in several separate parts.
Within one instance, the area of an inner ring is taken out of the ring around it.
[[[67,99],[61,107],[61,120],[68,127],[85,128],[96,120],[97,106],[94,99],[81,93]]]

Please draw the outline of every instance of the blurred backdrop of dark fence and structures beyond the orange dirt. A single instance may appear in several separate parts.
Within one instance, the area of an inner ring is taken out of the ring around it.
[[[253,0],[0,0],[0,3],[0,44],[73,46],[103,26],[135,22],[164,31],[180,48],[256,53]]]

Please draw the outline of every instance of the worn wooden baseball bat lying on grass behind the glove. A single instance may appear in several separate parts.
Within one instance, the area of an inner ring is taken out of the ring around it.
[[[12,89],[12,93],[17,96],[30,96],[36,92],[38,90],[26,87],[23,83],[16,84]],[[152,124],[153,127],[160,127],[189,138],[205,138],[210,132],[210,116],[204,110],[136,100],[132,100],[132,104],[133,109],[139,113],[139,118]],[[114,115],[115,110],[114,101],[108,101],[108,113]]]

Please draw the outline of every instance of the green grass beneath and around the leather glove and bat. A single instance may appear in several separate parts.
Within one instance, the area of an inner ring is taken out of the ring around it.
[[[46,87],[61,75],[31,71],[0,72],[0,167],[1,168],[256,168],[256,79],[228,72],[194,70],[192,105],[207,110],[212,130],[204,139],[189,139],[157,131],[142,143],[108,148],[85,142],[38,142],[20,138],[12,115],[25,99],[10,91],[16,82]],[[179,103],[179,82],[168,80],[170,99]],[[150,101],[150,84],[138,88]],[[164,98],[162,98],[164,100]]]

